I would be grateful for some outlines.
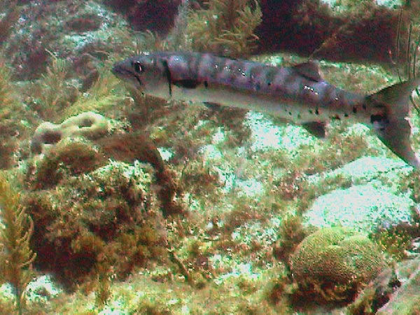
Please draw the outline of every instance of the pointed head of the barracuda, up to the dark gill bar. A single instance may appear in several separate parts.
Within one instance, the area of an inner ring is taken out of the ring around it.
[[[159,55],[138,55],[114,64],[115,76],[130,83],[137,90],[158,97],[169,94],[167,58]]]

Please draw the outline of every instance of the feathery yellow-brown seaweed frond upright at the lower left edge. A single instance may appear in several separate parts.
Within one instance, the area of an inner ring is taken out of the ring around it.
[[[0,174],[1,220],[1,275],[12,286],[18,313],[25,307],[25,288],[31,281],[32,262],[36,254],[29,248],[34,223],[20,205],[20,195],[10,187],[6,176]]]

